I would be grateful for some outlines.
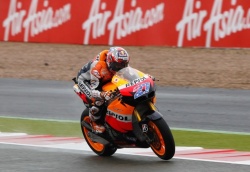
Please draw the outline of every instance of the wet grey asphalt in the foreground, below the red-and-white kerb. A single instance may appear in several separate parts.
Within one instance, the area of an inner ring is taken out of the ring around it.
[[[0,144],[0,168],[4,172],[247,172],[249,166],[116,154],[102,158],[88,151],[23,147]],[[6,158],[8,157],[8,158]]]

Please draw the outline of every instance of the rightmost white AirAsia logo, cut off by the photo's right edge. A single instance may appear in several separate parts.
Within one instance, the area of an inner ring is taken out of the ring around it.
[[[176,25],[179,32],[178,47],[182,47],[184,35],[191,41],[206,32],[206,47],[211,46],[211,40],[219,41],[226,36],[242,30],[250,29],[250,9],[245,11],[241,5],[236,5],[237,0],[231,0],[228,11],[222,11],[223,0],[214,0],[209,19],[204,21],[208,11],[200,10],[201,1],[187,0],[183,17]],[[194,12],[194,8],[199,12]],[[203,23],[205,23],[203,25]]]

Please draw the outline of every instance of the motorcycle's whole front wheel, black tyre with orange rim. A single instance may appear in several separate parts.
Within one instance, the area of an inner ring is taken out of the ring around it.
[[[171,159],[175,154],[175,142],[168,124],[163,118],[148,123],[151,149],[163,160]]]

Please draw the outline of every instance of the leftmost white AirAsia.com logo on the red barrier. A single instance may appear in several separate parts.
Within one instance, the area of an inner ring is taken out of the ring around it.
[[[71,18],[71,5],[65,4],[62,8],[53,9],[49,7],[49,1],[44,0],[41,11],[37,10],[38,0],[32,0],[29,10],[22,9],[22,3],[11,0],[8,16],[3,21],[4,41],[9,36],[15,36],[24,30],[24,41],[28,42],[29,37],[42,33],[46,30],[56,28]]]

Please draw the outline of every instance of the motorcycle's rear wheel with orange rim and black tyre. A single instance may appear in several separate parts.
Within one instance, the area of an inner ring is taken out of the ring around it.
[[[83,120],[86,123],[88,123],[89,125],[91,125],[91,121],[90,121],[90,118],[89,118],[89,111],[88,111],[88,109],[85,109],[82,112],[81,121],[80,122],[82,122]],[[89,134],[88,134],[90,131],[87,128],[83,127],[82,125],[81,125],[81,129],[82,129],[83,137],[85,138],[85,140],[88,143],[89,147],[97,155],[99,155],[99,156],[111,156],[111,155],[113,155],[116,152],[116,150],[117,150],[116,147],[111,146],[111,145],[104,145],[104,144],[92,141],[91,138],[89,137]]]

